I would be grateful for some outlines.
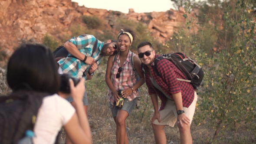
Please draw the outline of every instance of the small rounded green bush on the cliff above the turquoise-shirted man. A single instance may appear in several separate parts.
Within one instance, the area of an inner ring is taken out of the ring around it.
[[[82,16],[82,21],[89,29],[102,29],[103,21],[97,16]]]

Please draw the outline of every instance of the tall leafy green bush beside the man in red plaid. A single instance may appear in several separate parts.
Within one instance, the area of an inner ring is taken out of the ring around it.
[[[200,29],[190,36],[189,47],[205,72],[193,121],[214,128],[214,133],[207,136],[207,143],[255,141],[252,138],[256,135],[255,23],[249,16],[254,1],[237,0],[235,6],[222,7],[223,29],[212,20],[210,29],[214,33],[209,32],[211,18],[205,15],[204,24],[199,26],[197,18],[187,15],[193,6],[185,5],[187,28],[193,30],[193,22],[197,22]],[[219,51],[208,56],[205,47],[214,46],[212,42],[217,43]],[[243,133],[244,136],[239,136]],[[227,135],[232,139],[227,140]]]

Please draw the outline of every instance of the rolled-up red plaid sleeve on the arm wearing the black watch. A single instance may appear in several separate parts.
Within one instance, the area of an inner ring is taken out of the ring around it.
[[[175,65],[167,59],[162,59],[158,62],[158,72],[164,78],[165,83],[170,89],[171,94],[181,92],[180,84],[177,80],[173,67]]]

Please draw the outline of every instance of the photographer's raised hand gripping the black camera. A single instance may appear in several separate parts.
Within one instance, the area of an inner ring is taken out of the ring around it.
[[[80,79],[79,83],[74,86],[72,79],[69,79],[70,93],[74,101],[82,101],[85,94],[85,79]]]

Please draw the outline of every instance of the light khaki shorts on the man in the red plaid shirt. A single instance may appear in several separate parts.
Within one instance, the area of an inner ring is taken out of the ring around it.
[[[191,103],[191,105],[188,108],[183,107],[185,115],[190,119],[190,124],[193,120],[196,104],[197,104],[197,93],[195,92],[194,101]],[[174,127],[174,124],[176,123],[177,116],[178,116],[174,101],[167,99],[164,109],[159,111],[159,114],[160,114],[161,123],[159,123],[158,119],[156,119],[154,120],[153,124],[169,125],[171,127]]]

